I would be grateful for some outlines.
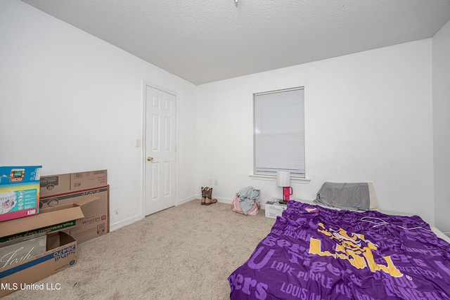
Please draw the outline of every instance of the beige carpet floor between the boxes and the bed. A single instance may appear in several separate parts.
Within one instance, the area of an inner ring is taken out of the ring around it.
[[[229,299],[228,276],[274,222],[193,200],[79,244],[75,266],[38,282],[59,290],[4,299]]]

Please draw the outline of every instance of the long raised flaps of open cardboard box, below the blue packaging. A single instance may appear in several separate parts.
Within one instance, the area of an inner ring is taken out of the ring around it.
[[[4,221],[0,226],[0,242],[79,226],[84,218],[82,207],[98,199],[96,195],[84,195],[74,203],[41,209],[40,214],[27,218]]]

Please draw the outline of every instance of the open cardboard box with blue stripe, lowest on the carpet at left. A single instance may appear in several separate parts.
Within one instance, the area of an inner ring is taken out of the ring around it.
[[[0,297],[25,289],[77,262],[77,241],[67,233],[46,235],[47,251],[0,269]],[[32,286],[31,286],[32,287]],[[38,287],[39,288],[39,287]],[[50,289],[47,283],[42,289]]]

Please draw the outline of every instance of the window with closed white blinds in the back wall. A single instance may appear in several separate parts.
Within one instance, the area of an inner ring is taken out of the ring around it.
[[[305,177],[303,87],[255,93],[254,174]]]

